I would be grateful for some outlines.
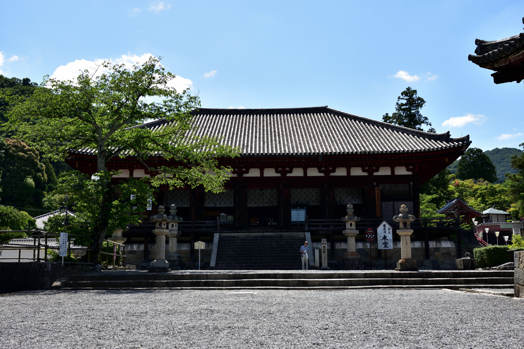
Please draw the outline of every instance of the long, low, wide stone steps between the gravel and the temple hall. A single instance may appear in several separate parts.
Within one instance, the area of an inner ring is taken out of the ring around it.
[[[71,275],[57,280],[62,289],[454,289],[513,288],[512,271],[428,272],[226,272],[147,273],[114,271]]]

